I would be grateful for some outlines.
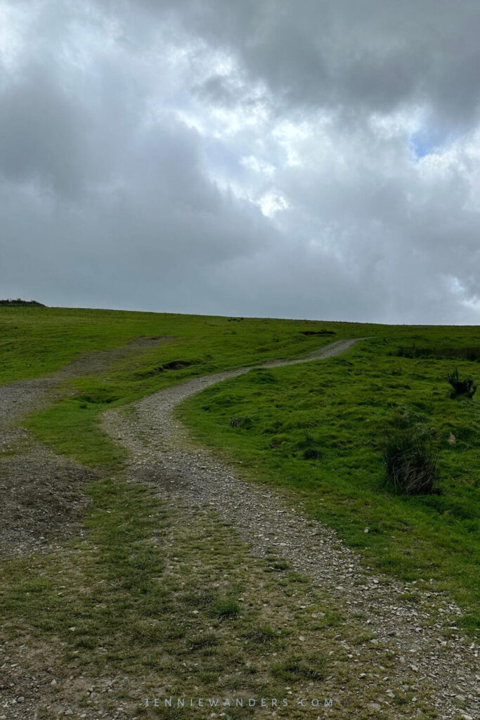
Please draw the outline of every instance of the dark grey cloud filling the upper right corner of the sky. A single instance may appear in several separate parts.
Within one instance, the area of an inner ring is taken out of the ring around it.
[[[291,104],[390,112],[404,102],[427,102],[451,123],[471,122],[479,110],[476,0],[140,0],[140,6],[228,48]]]

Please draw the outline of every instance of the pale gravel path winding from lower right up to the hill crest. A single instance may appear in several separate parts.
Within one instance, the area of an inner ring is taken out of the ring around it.
[[[326,358],[353,342],[338,341],[303,359],[272,361],[263,367]],[[304,518],[301,504],[291,508],[277,492],[241,480],[207,449],[191,446],[186,429],[172,416],[173,408],[189,395],[245,372],[248,368],[198,377],[146,397],[135,404],[134,412],[106,413],[104,427],[132,452],[129,479],[148,482],[162,498],[189,505],[192,511],[210,506],[257,554],[275,549],[293,570],[328,588],[333,599],[346,602],[351,613],[363,613],[373,635],[369,642],[396,653],[396,680],[404,680],[414,698],[415,688],[431,688],[431,707],[439,718],[479,718],[478,649],[458,629],[461,612],[448,595],[374,575],[334,531]],[[412,590],[420,594],[420,602],[402,597]],[[412,717],[417,714],[421,711],[415,711],[413,699]]]

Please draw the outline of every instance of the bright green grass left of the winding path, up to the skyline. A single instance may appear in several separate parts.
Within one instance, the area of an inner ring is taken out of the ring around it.
[[[335,335],[303,334],[312,328]],[[116,469],[122,458],[101,431],[104,410],[194,375],[307,353],[362,332],[365,326],[354,323],[0,307],[0,382],[50,374],[78,356],[124,347],[138,337],[171,338],[158,346],[134,348],[108,372],[65,382],[65,397],[27,420],[56,451],[91,467]]]

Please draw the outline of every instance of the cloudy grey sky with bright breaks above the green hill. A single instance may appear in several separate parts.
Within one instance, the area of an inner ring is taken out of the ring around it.
[[[480,320],[478,0],[0,0],[0,297]]]

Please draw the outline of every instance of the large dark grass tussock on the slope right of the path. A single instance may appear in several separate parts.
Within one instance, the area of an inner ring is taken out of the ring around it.
[[[385,484],[404,495],[438,493],[437,460],[418,431],[394,433],[384,446]]]

